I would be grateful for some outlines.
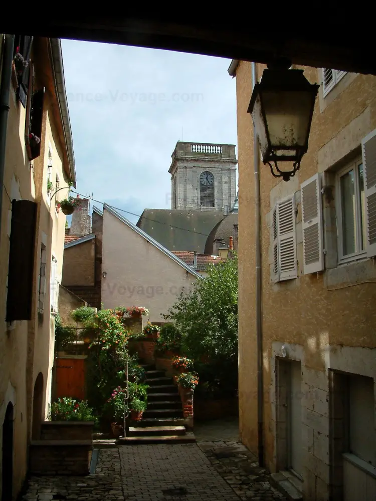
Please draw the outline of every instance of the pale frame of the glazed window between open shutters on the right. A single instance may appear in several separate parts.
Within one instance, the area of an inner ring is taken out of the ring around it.
[[[360,242],[362,238],[361,234],[361,199],[360,199],[360,189],[359,189],[359,179],[358,179],[358,168],[359,165],[363,164],[363,160],[361,155],[356,157],[356,159],[352,160],[350,163],[346,164],[343,168],[336,172],[335,176],[335,191],[336,191],[336,202],[335,202],[335,210],[336,210],[336,225],[337,225],[337,254],[338,254],[338,265],[349,263],[351,261],[359,260],[366,258],[367,256],[367,248],[366,241],[363,241],[363,249],[356,250],[356,252],[352,254],[343,254],[343,226],[342,226],[342,197],[341,197],[341,184],[340,179],[350,170],[354,170],[356,175],[354,175],[354,189],[355,189],[355,234],[356,241]],[[364,176],[364,169],[363,169]],[[366,217],[366,211],[364,210],[364,218]],[[364,240],[364,239],[363,239]]]

